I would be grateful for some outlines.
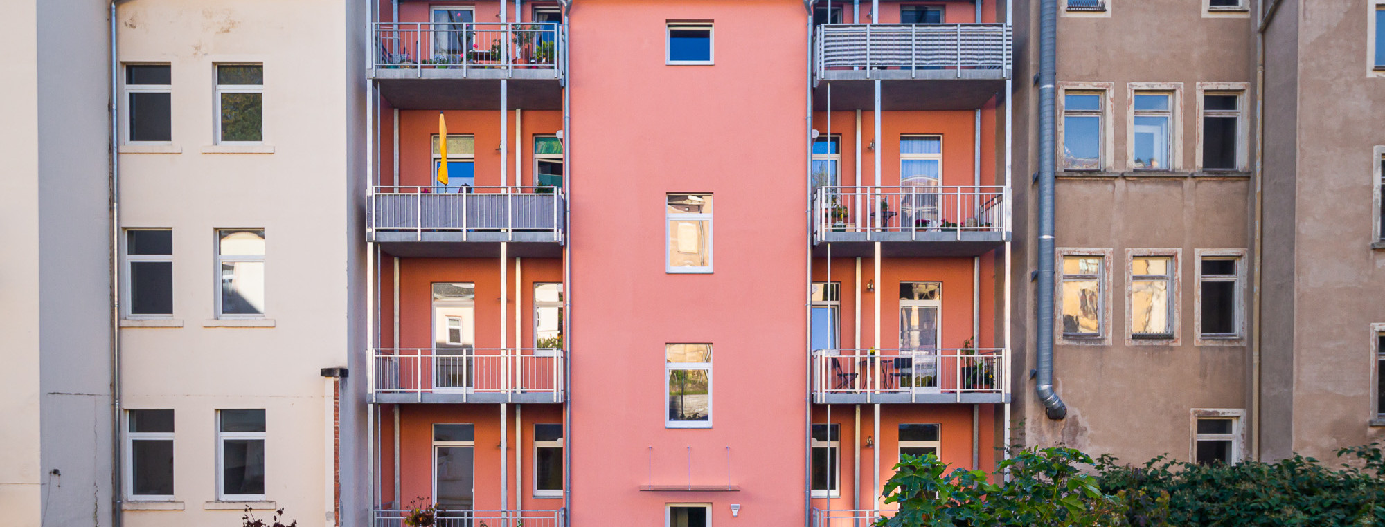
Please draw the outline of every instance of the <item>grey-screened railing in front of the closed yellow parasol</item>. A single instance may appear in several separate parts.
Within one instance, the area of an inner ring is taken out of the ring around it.
[[[370,228],[424,232],[553,232],[562,241],[558,187],[371,187]]]

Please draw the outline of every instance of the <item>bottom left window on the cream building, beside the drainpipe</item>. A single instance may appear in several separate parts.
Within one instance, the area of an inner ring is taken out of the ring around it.
[[[173,411],[126,415],[125,487],[132,499],[173,499]]]

